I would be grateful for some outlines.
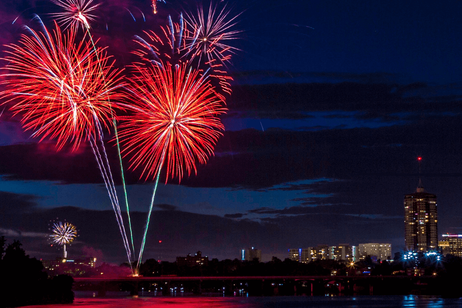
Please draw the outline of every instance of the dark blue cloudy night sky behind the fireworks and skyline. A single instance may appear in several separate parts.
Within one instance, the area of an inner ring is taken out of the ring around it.
[[[254,246],[269,261],[288,248],[367,242],[398,252],[417,157],[423,186],[438,198],[438,233],[462,232],[462,2],[218,3],[225,4],[231,15],[242,12],[233,27],[242,32],[229,42],[240,51],[228,65],[224,136],[197,176],[160,184],[144,260],[198,250],[234,259]],[[192,0],[159,2],[157,15],[149,5],[107,0],[96,13],[93,35],[119,67],[132,61],[133,35],[159,30],[168,14],[196,11]],[[37,27],[33,13],[51,26],[47,13],[59,10],[46,0],[2,1],[0,43],[16,42],[22,25]],[[70,256],[125,261],[89,145],[57,151],[53,141],[30,138],[19,120],[8,108],[0,116],[0,235],[21,240],[32,257],[54,259],[61,252],[47,235],[59,218],[79,230]],[[153,186],[139,176],[127,172],[136,246]]]

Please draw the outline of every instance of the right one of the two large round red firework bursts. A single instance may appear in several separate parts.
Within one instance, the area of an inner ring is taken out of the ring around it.
[[[224,129],[218,118],[223,101],[209,82],[184,64],[175,69],[166,63],[135,67],[127,87],[132,114],[122,117],[120,136],[131,168],[143,168],[141,178],[155,176],[166,165],[166,179],[196,172],[204,164]]]

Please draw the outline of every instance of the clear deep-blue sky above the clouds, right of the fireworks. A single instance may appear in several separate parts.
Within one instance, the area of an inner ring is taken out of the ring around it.
[[[255,48],[247,48],[239,69],[381,72],[403,83],[461,79],[462,4],[457,1],[254,3],[242,24],[254,26],[247,33]]]

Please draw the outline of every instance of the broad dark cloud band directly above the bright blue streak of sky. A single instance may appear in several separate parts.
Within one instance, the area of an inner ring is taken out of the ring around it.
[[[448,142],[454,146],[454,153],[460,143],[457,136],[462,122],[455,107],[450,105],[448,110],[448,104],[442,104],[439,109],[434,108],[432,113],[424,115],[410,113],[411,108],[420,105],[410,105],[402,99],[399,99],[401,105],[386,107],[393,105],[394,100],[380,101],[383,111],[363,113],[361,117],[379,123],[399,122],[399,125],[317,131],[275,128],[225,131],[217,144],[216,156],[211,157],[206,165],[198,166],[197,176],[185,178],[182,185],[258,189],[304,179],[342,179],[387,172],[399,157],[408,156],[409,151],[417,153],[422,148],[417,144],[426,144],[428,140],[434,146],[426,150],[434,151],[434,155],[450,155],[445,148]],[[426,104],[433,103],[422,103],[422,108]],[[351,108],[347,103],[342,107]],[[403,121],[397,121],[397,116],[393,115],[397,112],[402,114],[399,119]],[[342,111],[336,111],[333,117],[345,123],[358,120],[358,117],[342,117]],[[339,151],[339,148],[343,150]],[[110,144],[107,150],[110,164],[117,165],[114,146]],[[357,161],[356,157],[362,160]],[[6,175],[7,179],[102,182],[91,150],[86,145],[74,152],[69,148],[57,152],[55,146],[47,142],[13,144],[0,147],[0,159],[9,162],[0,165],[0,174]],[[450,173],[450,167],[441,172]],[[128,183],[142,183],[136,172],[126,172],[126,175]]]

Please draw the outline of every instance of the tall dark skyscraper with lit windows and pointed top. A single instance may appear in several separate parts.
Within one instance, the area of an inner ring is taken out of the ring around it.
[[[437,251],[436,195],[426,192],[419,180],[414,194],[405,196],[404,206],[406,249],[415,252]]]

